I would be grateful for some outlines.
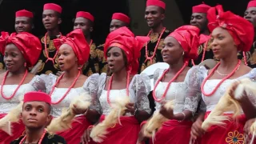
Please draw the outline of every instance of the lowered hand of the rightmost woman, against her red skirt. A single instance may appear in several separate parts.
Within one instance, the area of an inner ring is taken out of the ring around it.
[[[202,120],[198,119],[197,121],[195,121],[191,127],[191,137],[195,140],[198,137],[201,137],[202,134],[204,134],[205,131],[202,130]]]

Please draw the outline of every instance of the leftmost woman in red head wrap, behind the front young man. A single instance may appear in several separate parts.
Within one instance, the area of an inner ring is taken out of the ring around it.
[[[0,118],[3,118],[20,102],[20,96],[29,91],[45,91],[45,82],[28,72],[29,67],[38,61],[42,46],[33,34],[22,32],[8,34],[2,32],[0,37],[0,51],[4,55],[6,72],[0,74]],[[2,122],[0,120],[0,122]],[[12,123],[13,130],[0,127],[0,143],[10,143],[24,131],[22,122]],[[4,131],[5,130],[5,131]],[[7,134],[9,133],[9,134]],[[11,133],[11,134],[10,134]]]

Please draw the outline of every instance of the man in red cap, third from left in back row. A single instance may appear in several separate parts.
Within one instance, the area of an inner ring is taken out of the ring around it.
[[[90,33],[94,30],[93,26],[94,16],[85,11],[78,11],[74,20],[74,30],[82,29],[86,41],[90,46],[90,58],[83,68],[83,74],[86,76],[99,72],[96,44],[94,43],[93,39],[90,38]]]

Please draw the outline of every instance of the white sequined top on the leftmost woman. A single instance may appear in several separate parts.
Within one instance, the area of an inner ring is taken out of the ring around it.
[[[10,98],[10,95],[14,94],[14,90],[16,90],[17,86],[18,85],[4,85],[3,94],[5,94],[7,98]],[[10,110],[13,110],[15,106],[18,106],[21,99],[20,97],[25,93],[38,90],[46,91],[45,82],[39,76],[34,76],[29,83],[23,84],[19,87],[14,98],[6,100],[0,96],[0,114],[7,114]]]

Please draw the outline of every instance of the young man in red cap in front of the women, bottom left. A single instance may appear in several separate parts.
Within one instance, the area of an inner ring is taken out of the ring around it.
[[[45,130],[52,117],[50,115],[51,98],[42,92],[29,92],[24,95],[22,106],[22,122],[26,126],[25,135],[14,140],[11,144],[66,144],[64,138],[49,134]]]

